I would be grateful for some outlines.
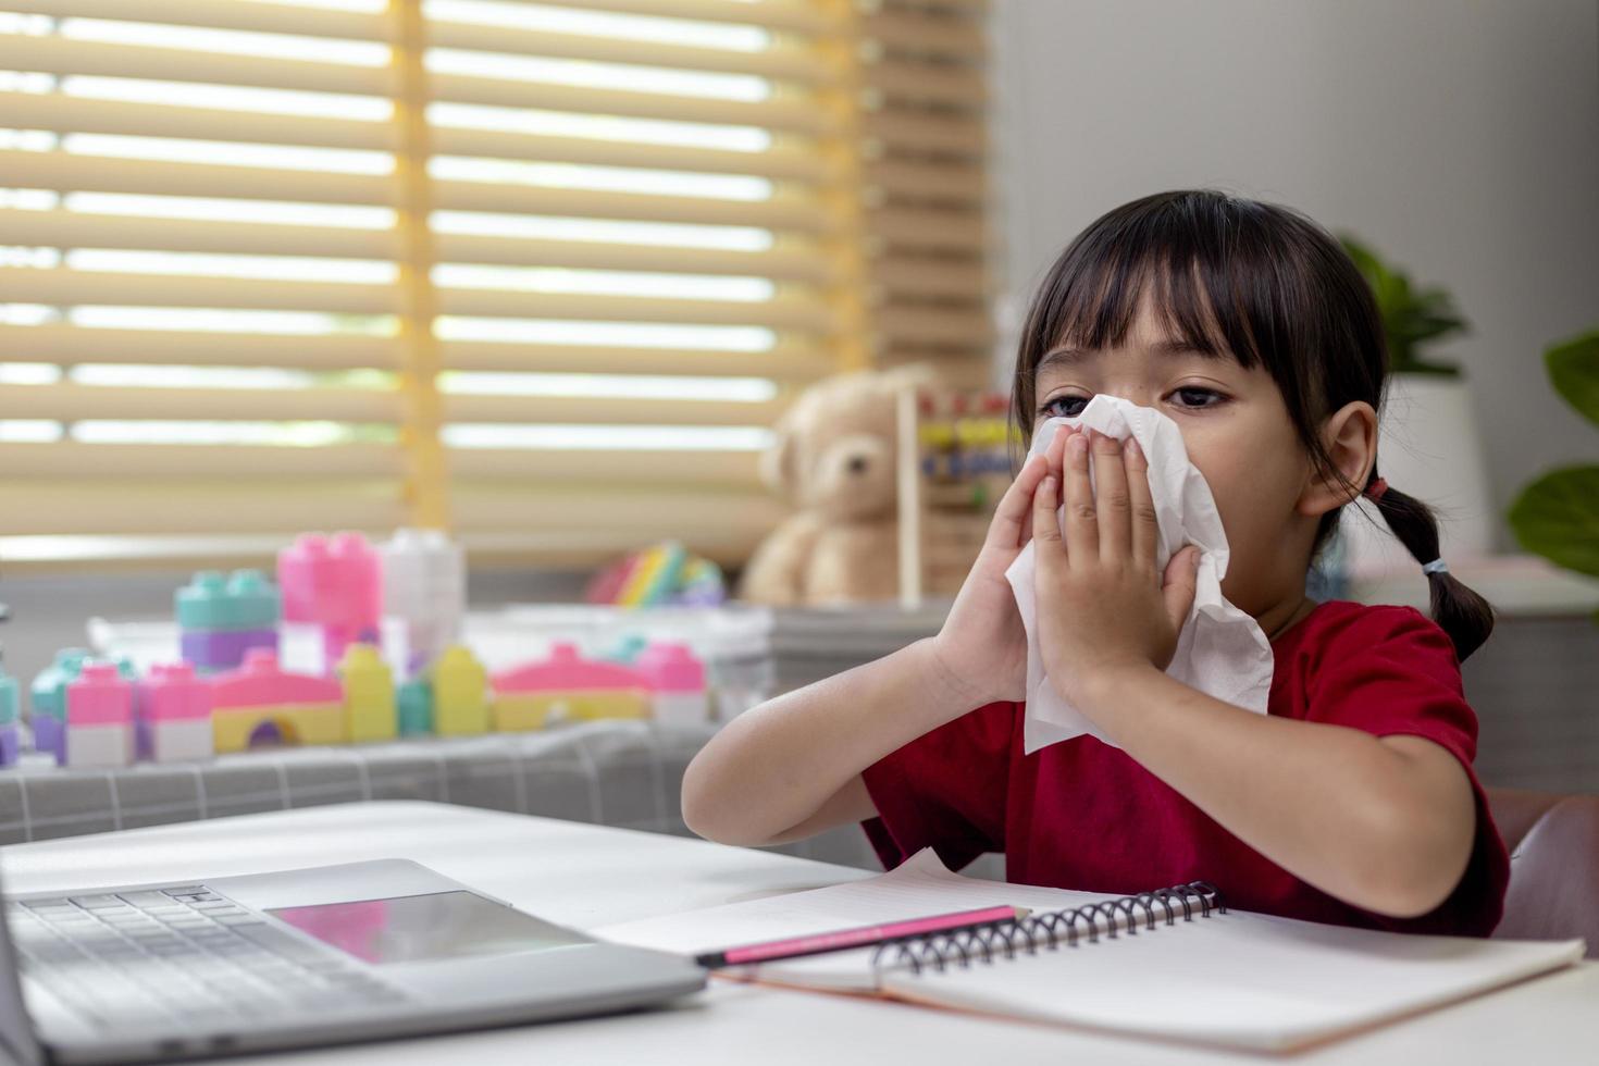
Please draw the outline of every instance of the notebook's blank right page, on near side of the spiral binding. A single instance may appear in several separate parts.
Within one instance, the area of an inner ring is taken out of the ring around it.
[[[894,994],[1178,1040],[1289,1050],[1559,969],[1583,941],[1417,937],[1228,911],[1134,937],[889,972]]]

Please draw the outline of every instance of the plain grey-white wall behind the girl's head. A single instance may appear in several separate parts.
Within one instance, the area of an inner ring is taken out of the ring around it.
[[[1500,511],[1599,455],[1540,360],[1599,324],[1596,0],[999,0],[995,50],[1012,296],[1138,195],[1282,201],[1453,291]]]

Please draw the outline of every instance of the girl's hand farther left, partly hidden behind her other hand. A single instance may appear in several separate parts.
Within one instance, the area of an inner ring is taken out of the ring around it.
[[[1063,435],[1049,452],[1033,455],[995,508],[988,535],[966,575],[943,628],[932,638],[932,658],[943,684],[972,708],[1027,698],[1027,630],[1004,572],[1033,535],[1028,510],[1051,462],[1059,470]]]

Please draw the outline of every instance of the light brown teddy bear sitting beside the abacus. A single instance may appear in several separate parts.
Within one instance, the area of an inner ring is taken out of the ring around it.
[[[795,513],[755,550],[740,596],[769,606],[899,596],[897,403],[932,388],[924,364],[857,371],[806,388],[772,428],[761,476]]]

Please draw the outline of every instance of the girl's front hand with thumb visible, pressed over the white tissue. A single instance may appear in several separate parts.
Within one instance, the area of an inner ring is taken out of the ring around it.
[[[1137,441],[1062,430],[1059,465],[1033,494],[1039,652],[1051,684],[1087,710],[1095,682],[1124,668],[1166,670],[1194,601],[1199,548],[1154,569],[1159,529]],[[1057,451],[1051,449],[1051,457]],[[1095,499],[1089,487],[1092,454]],[[1057,521],[1055,508],[1065,503]],[[1062,524],[1065,534],[1062,535]]]

